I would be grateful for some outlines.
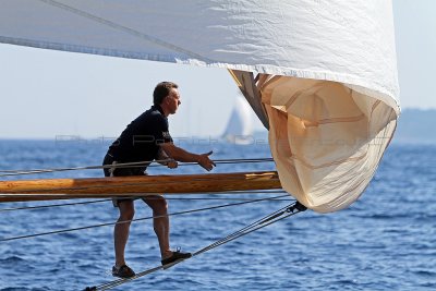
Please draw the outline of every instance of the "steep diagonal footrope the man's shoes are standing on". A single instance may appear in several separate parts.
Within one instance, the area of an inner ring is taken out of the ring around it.
[[[257,221],[255,221],[255,222],[253,222],[253,223],[251,223],[251,225],[249,225],[249,226],[246,226],[246,227],[244,227],[244,228],[242,228],[242,229],[240,229],[240,230],[227,235],[226,238],[222,238],[222,239],[220,239],[220,240],[218,240],[218,241],[216,241],[216,242],[214,242],[214,243],[211,243],[211,244],[209,244],[209,245],[196,251],[195,253],[192,254],[192,257],[195,257],[195,256],[197,256],[199,254],[206,253],[206,252],[208,252],[208,251],[210,251],[210,250],[213,250],[215,247],[218,247],[218,246],[220,246],[222,244],[229,243],[229,242],[231,242],[233,240],[237,240],[237,239],[239,239],[241,237],[244,237],[244,235],[246,235],[246,234],[249,234],[251,232],[254,232],[256,230],[259,230],[262,228],[265,228],[267,226],[276,223],[276,222],[278,222],[278,221],[280,221],[280,220],[282,220],[284,218],[288,218],[290,216],[293,216],[293,215],[295,215],[298,213],[301,213],[301,211],[304,211],[304,210],[306,210],[306,207],[303,206],[302,204],[300,204],[299,202],[295,202],[295,203],[293,203],[293,204],[291,204],[289,206],[286,206],[286,207],[283,207],[283,208],[281,208],[279,210],[277,210],[277,211],[274,211],[274,213],[271,213],[271,214],[258,219]],[[186,260],[186,259],[183,259],[183,260]],[[157,266],[157,267],[141,271],[141,272],[136,274],[134,277],[129,278],[129,279],[117,279],[117,280],[113,280],[113,281],[109,281],[109,282],[102,283],[100,286],[87,287],[84,291],[109,290],[109,289],[112,289],[112,288],[114,288],[117,286],[120,286],[120,284],[123,284],[125,282],[138,279],[141,277],[144,277],[144,276],[146,276],[148,274],[158,271],[160,269],[170,268],[170,267],[172,267],[172,266],[174,266],[177,264],[180,264],[183,260],[174,262],[172,264],[166,265],[165,267],[164,266]]]

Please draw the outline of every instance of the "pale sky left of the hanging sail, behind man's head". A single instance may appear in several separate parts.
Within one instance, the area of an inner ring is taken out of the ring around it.
[[[117,137],[161,81],[180,85],[178,136],[223,132],[238,87],[227,70],[0,45],[1,137]]]

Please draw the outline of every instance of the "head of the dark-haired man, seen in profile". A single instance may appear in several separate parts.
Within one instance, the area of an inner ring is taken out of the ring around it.
[[[179,105],[181,105],[178,88],[179,86],[175,83],[160,82],[153,92],[154,105],[159,105],[167,117],[174,114]]]

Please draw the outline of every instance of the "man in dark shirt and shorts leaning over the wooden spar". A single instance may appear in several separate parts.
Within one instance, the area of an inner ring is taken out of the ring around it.
[[[178,85],[172,82],[157,84],[153,93],[150,109],[132,121],[113,142],[105,157],[104,165],[116,165],[134,161],[153,161],[161,159],[162,155],[171,160],[169,168],[175,168],[177,161],[197,162],[207,171],[216,165],[207,154],[189,153],[172,143],[168,130],[168,116],[174,114],[181,105]],[[106,177],[144,175],[146,166],[142,168],[110,168],[105,169]],[[154,230],[159,241],[162,265],[191,257],[190,253],[171,251],[169,241],[169,218],[167,216],[167,201],[160,195],[145,196],[143,201],[153,209]],[[131,198],[114,198],[113,205],[119,208],[118,222],[130,221],[134,216],[134,201]],[[130,222],[117,223],[113,231],[116,264],[112,275],[120,278],[130,278],[135,272],[126,265],[124,250],[129,239]]]

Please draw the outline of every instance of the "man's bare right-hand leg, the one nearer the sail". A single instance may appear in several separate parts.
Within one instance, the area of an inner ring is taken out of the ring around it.
[[[144,202],[153,209],[153,227],[159,241],[160,256],[170,257],[170,220],[168,218],[168,204],[162,196],[147,196]],[[161,216],[161,217],[157,217]]]

